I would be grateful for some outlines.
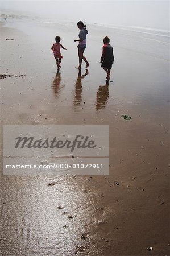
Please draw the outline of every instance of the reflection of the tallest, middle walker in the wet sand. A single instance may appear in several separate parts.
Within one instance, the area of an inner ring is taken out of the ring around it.
[[[75,84],[75,93],[74,93],[74,99],[73,104],[77,105],[80,104],[82,101],[82,83],[81,79],[83,79],[86,75],[88,75],[88,69],[86,69],[86,72],[84,75],[81,75],[81,69],[78,70],[78,77]]]

